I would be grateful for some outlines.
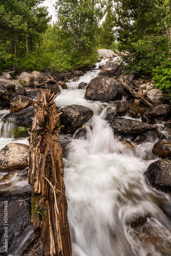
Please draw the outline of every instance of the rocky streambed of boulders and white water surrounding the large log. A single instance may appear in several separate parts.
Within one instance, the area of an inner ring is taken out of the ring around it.
[[[59,93],[75,255],[170,255],[170,104],[151,81],[124,75],[116,58],[86,74],[0,77],[0,212],[8,201],[9,254],[44,255],[31,225],[28,132],[40,91],[50,89]],[[137,105],[123,82],[152,106]],[[2,255],[4,239],[2,228]]]

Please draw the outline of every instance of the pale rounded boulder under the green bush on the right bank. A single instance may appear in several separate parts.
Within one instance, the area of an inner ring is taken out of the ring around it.
[[[159,89],[152,89],[146,93],[146,97],[154,105],[162,104],[164,102],[164,95]]]

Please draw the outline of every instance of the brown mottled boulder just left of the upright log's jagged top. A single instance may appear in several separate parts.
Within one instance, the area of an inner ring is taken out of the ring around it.
[[[34,105],[35,101],[29,97],[18,95],[11,100],[10,112],[18,112]]]

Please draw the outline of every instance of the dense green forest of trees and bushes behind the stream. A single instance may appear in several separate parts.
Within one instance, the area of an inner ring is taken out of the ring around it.
[[[170,91],[170,0],[57,0],[53,25],[43,2],[0,0],[1,72],[86,70],[111,49],[129,52],[126,72]]]

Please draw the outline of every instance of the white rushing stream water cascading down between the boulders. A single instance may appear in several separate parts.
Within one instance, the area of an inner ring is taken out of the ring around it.
[[[171,197],[149,187],[143,176],[149,164],[157,160],[152,154],[157,140],[148,132],[142,144],[135,145],[126,139],[121,142],[105,121],[106,114],[115,110],[116,102],[86,100],[86,90],[77,89],[80,82],[90,82],[97,76],[100,64],[77,82],[67,83],[69,90],[61,89],[55,100],[61,107],[80,104],[94,111],[85,124],[86,137],[78,139],[77,131],[73,137],[61,135],[62,141],[68,138],[70,141],[63,163],[66,194],[70,199],[68,219],[73,255],[169,256]],[[162,123],[158,126],[163,130]],[[0,147],[14,141],[26,143],[26,139],[0,138]],[[21,187],[26,181],[21,181],[20,175],[12,179],[14,187],[15,180],[19,180]],[[133,215],[147,218],[147,222],[133,228],[130,225]]]

